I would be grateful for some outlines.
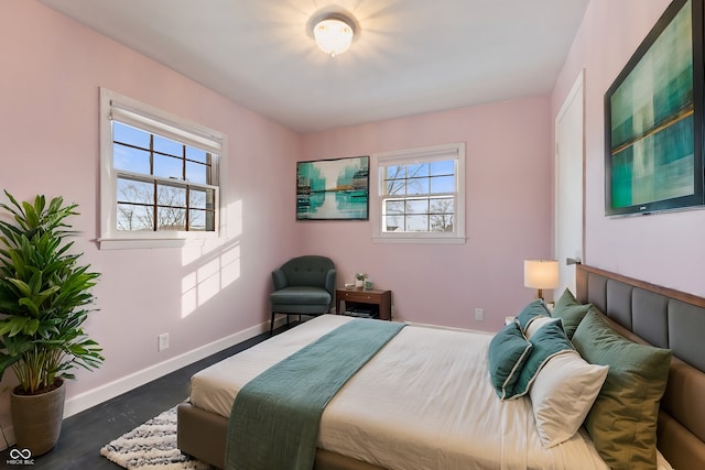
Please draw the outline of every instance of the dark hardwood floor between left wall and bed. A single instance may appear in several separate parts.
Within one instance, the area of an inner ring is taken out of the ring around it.
[[[276,330],[294,327],[284,326]],[[116,470],[119,466],[100,456],[100,448],[188,396],[188,380],[202,369],[269,338],[259,335],[206,359],[156,379],[138,389],[64,419],[56,447],[34,458],[33,466],[9,466],[9,449],[0,452],[0,468],[47,470]]]

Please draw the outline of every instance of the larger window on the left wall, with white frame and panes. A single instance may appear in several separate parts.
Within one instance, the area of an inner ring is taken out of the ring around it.
[[[224,136],[101,90],[101,249],[219,233]]]

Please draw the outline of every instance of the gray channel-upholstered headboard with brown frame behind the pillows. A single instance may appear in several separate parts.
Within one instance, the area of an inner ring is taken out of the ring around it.
[[[705,468],[705,298],[597,267],[576,266],[576,298],[615,329],[673,351],[658,447],[675,469]]]

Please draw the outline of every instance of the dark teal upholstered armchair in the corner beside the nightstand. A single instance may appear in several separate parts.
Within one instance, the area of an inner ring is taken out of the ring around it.
[[[330,311],[335,296],[335,265],[325,256],[294,258],[272,271],[274,292],[270,294],[272,319],[270,335],[274,332],[276,314],[322,315]]]

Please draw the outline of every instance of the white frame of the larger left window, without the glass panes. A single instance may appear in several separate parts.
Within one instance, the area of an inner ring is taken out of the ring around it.
[[[145,132],[176,140],[198,147],[214,155],[215,184],[215,231],[124,231],[117,229],[117,179],[118,171],[113,167],[112,119],[133,125]],[[189,122],[183,118],[162,111],[152,106],[128,98],[106,88],[100,88],[100,236],[101,250],[171,248],[183,247],[186,242],[204,243],[218,240],[225,233],[224,208],[221,201],[223,181],[226,159],[226,135],[204,125]]]

